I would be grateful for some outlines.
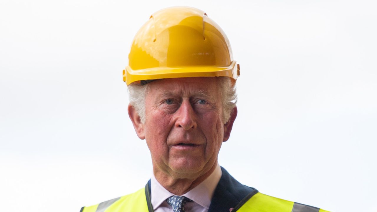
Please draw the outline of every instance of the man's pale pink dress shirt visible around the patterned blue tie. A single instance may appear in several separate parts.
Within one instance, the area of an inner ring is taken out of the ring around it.
[[[215,170],[209,177],[207,177],[207,179],[205,179],[195,188],[189,190],[186,194],[182,195],[192,200],[192,202],[185,204],[184,208],[186,212],[208,211],[211,204],[211,199],[213,197],[213,192],[215,192],[216,186],[220,181],[221,174],[222,172],[220,165],[217,164]],[[152,175],[150,180],[150,187],[153,210],[155,212],[172,212],[173,209],[169,204],[167,204],[166,199],[174,194],[162,187],[154,175]]]

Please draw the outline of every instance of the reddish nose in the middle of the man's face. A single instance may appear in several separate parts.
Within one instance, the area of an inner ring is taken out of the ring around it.
[[[196,128],[196,114],[188,100],[183,100],[179,109],[176,111],[177,119],[175,126],[189,130]]]

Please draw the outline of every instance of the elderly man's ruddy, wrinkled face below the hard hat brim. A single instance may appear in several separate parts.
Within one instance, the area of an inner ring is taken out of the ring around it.
[[[218,79],[162,79],[149,86],[146,122],[133,122],[138,136],[146,139],[154,169],[173,178],[206,173],[231,130],[222,120]]]

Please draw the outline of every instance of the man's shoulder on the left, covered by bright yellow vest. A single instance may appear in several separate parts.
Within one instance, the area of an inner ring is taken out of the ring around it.
[[[134,207],[138,206],[139,209],[142,208],[143,205],[146,202],[146,196],[143,189],[139,189],[138,191],[124,195],[122,197],[114,198],[112,200],[107,200],[99,204],[95,204],[92,206],[82,207],[80,212],[97,212],[97,211],[105,211],[111,212],[111,211],[135,211]],[[148,211],[145,210],[145,211]]]

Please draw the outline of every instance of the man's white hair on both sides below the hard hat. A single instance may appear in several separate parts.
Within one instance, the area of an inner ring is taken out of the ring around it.
[[[222,97],[222,120],[228,122],[232,109],[236,106],[237,94],[235,83],[229,77],[218,77],[220,96]],[[131,83],[128,86],[130,104],[138,113],[141,123],[145,123],[145,99],[149,91],[149,84]]]

